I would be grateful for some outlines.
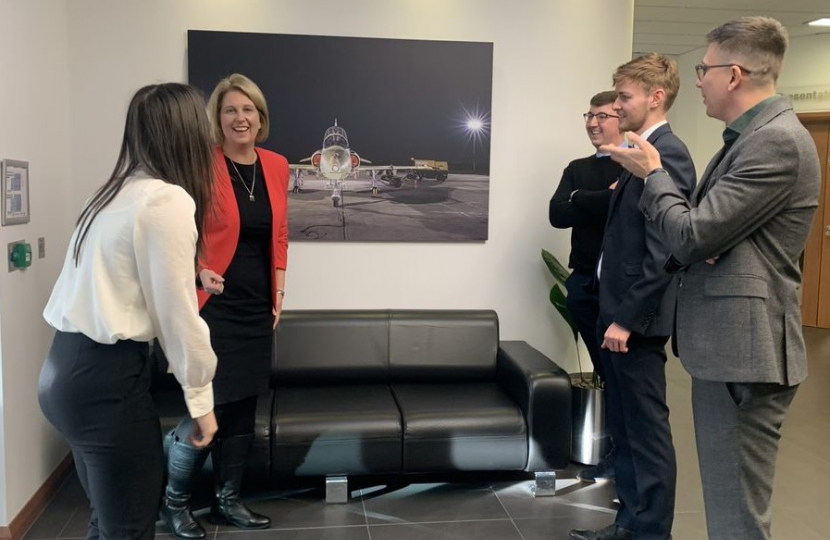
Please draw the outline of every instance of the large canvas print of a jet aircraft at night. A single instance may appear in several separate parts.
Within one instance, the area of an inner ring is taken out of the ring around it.
[[[291,242],[487,240],[492,43],[188,30],[187,71],[262,90]]]

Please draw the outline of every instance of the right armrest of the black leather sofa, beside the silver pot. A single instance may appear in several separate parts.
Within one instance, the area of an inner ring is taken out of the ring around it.
[[[502,341],[498,383],[522,409],[528,430],[526,471],[564,469],[571,458],[568,374],[524,341]]]

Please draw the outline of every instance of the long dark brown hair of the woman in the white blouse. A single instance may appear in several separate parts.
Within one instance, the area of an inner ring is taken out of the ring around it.
[[[127,178],[142,171],[183,188],[196,203],[198,253],[213,186],[210,123],[204,96],[186,84],[164,83],[141,88],[127,109],[121,151],[109,180],[98,188],[78,217],[74,259],[78,264],[89,227],[121,191]]]

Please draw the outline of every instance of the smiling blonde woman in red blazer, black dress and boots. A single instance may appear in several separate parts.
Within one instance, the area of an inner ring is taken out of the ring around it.
[[[200,257],[200,315],[210,327],[218,364],[213,379],[219,432],[212,450],[187,439],[189,417],[170,434],[168,484],[161,515],[179,538],[204,538],[190,511],[194,476],[210,451],[214,523],[264,528],[271,520],[248,509],[240,484],[254,438],[257,396],[268,389],[274,329],[285,296],[288,251],[288,161],[256,148],[268,136],[262,91],[244,75],[219,82],[208,102],[216,186]]]

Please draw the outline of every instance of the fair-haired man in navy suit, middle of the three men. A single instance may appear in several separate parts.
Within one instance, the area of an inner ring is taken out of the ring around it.
[[[686,146],[666,122],[677,96],[677,64],[649,54],[617,68],[614,110],[664,155],[676,188],[691,194],[695,170]],[[602,147],[603,151],[607,151]],[[620,509],[599,531],[573,530],[577,540],[667,540],[674,519],[677,464],[666,406],[665,346],[674,325],[674,277],[656,227],[637,208],[643,182],[624,174],[608,209],[597,268],[608,425],[616,448]]]

